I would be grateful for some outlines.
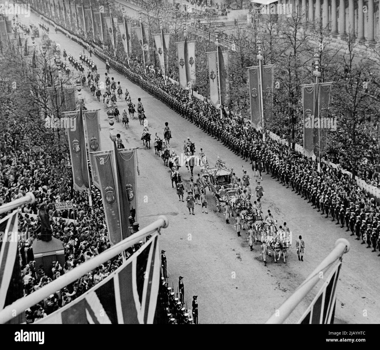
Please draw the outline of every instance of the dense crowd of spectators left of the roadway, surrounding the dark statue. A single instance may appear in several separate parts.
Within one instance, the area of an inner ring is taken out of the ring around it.
[[[19,102],[19,101],[18,101]],[[3,99],[0,110],[3,137],[0,141],[0,205],[11,202],[33,192],[36,201],[20,208],[19,232],[24,233],[19,243],[21,256],[22,283],[24,294],[28,295],[47,283],[67,273],[75,266],[109,248],[101,195],[97,189],[92,191],[92,207],[89,206],[87,192],[72,188],[72,173],[62,150],[49,147],[49,153],[33,153],[33,146],[46,145],[54,138],[50,129],[36,131],[30,123],[40,120],[28,119],[26,123],[13,115],[15,101]],[[33,118],[33,116],[31,116]],[[35,117],[38,118],[38,117]],[[47,147],[47,146],[46,146]],[[74,210],[55,210],[55,202],[73,201]],[[53,262],[48,270],[37,266],[33,259],[33,241],[41,232],[40,211],[46,211],[50,219],[52,236],[62,241],[65,263]],[[5,216],[3,214],[1,217]],[[67,220],[68,219],[68,220]],[[75,220],[74,220],[75,219]],[[75,223],[75,224],[74,224]],[[127,257],[141,246],[141,242],[128,249]],[[93,285],[100,282],[122,263],[121,255],[99,266],[78,281],[45,298],[26,311],[26,322],[32,323],[39,318],[59,309],[71,300],[78,298]]]

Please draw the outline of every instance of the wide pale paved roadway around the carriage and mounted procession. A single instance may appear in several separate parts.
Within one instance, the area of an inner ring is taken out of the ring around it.
[[[21,20],[28,22],[29,19]],[[35,14],[31,15],[30,20],[38,25]],[[83,51],[79,44],[73,43],[62,33],[54,33],[52,26],[49,37],[61,45],[61,52],[66,49],[68,53],[79,58]],[[105,64],[97,58],[93,59],[103,78]],[[235,169],[238,176],[241,175],[241,166],[244,165],[252,177],[249,163],[242,162],[241,158],[220,142],[112,69],[110,76],[121,82],[123,92],[128,88],[136,105],[137,98],[141,97],[153,139],[155,132],[162,136],[164,123],[168,121],[173,134],[171,146],[177,154],[182,151],[183,142],[189,136],[195,142],[197,153],[203,148],[211,166],[219,155],[226,162],[226,166]],[[100,109],[102,144],[105,149],[111,148],[108,118],[103,102],[97,102],[88,88],[82,90],[82,96],[86,99],[87,108]],[[119,102],[118,106],[122,114],[126,107],[125,102]],[[264,267],[258,253],[259,245],[254,246],[254,251],[250,252],[244,237],[245,232],[242,237],[237,237],[233,225],[227,225],[223,215],[216,212],[215,202],[210,194],[209,214],[202,214],[200,206],[195,207],[195,216],[188,214],[185,203],[178,201],[175,189],[171,188],[168,167],[155,156],[153,146],[150,150],[142,147],[142,126],[138,120],[131,120],[130,128],[126,130],[120,116],[120,123],[115,123],[113,132],[122,135],[125,147],[139,147],[140,227],[154,221],[159,215],[169,218],[169,227],[160,236],[160,248],[166,250],[168,259],[169,283],[173,282],[176,290],[178,276],[184,276],[185,301],[188,307],[191,307],[192,296],[198,295],[200,323],[265,322],[332,250],[335,241],[340,237],[348,238],[351,249],[343,258],[337,286],[336,322],[380,323],[377,294],[380,279],[376,272],[380,268],[380,257],[365,249],[364,245],[358,244],[330,220],[324,219],[300,196],[285,189],[269,178],[269,175],[263,175],[263,211],[270,209],[279,224],[286,221],[293,232],[293,241],[301,234],[306,243],[304,262],[298,261],[293,245],[286,265],[282,262],[274,264],[269,259],[268,266]],[[196,167],[195,175],[198,171],[199,167]],[[181,174],[184,181],[189,180],[190,174],[186,169],[181,168]],[[144,201],[144,198],[147,200]],[[314,288],[288,318],[288,323],[298,320],[316,293],[317,288]]]

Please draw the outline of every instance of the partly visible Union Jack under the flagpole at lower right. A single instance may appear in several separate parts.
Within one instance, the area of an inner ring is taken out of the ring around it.
[[[342,262],[335,266],[314,300],[302,315],[298,324],[324,325],[333,324],[336,304],[336,284]]]

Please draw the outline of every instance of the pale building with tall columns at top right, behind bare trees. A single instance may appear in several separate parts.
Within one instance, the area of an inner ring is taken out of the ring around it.
[[[380,41],[379,0],[279,0],[291,4],[305,22],[320,20],[331,34],[351,33],[361,41]]]

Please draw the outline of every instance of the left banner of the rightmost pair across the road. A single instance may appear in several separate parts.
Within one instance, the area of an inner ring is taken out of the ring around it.
[[[316,88],[315,84],[301,85],[304,120],[304,153],[311,157],[314,154],[314,109]]]

